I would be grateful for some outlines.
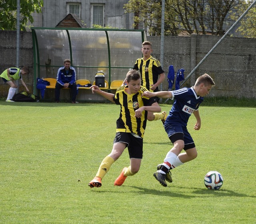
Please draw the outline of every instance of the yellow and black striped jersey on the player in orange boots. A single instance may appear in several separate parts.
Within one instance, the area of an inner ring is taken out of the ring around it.
[[[158,101],[158,97],[148,98],[141,96],[147,91],[143,86],[138,93],[128,94],[124,91],[128,86],[121,86],[116,90],[114,101],[120,105],[120,117],[116,121],[116,132],[134,133],[143,138],[146,129],[148,111],[143,111],[140,118],[135,117],[135,111],[142,106],[151,106]]]

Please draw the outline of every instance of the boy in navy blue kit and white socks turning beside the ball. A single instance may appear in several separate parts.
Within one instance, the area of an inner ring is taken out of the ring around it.
[[[175,91],[160,91],[151,93],[144,92],[142,95],[147,97],[161,97],[175,99],[172,109],[164,123],[164,129],[174,145],[167,153],[164,163],[158,165],[158,171],[154,173],[156,180],[167,186],[166,180],[172,182],[170,170],[183,165],[197,157],[195,143],[187,130],[187,123],[190,115],[196,117],[194,130],[201,127],[201,119],[198,111],[203,97],[212,89],[215,83],[208,74],[201,75],[196,79],[196,83],[191,88],[184,87]],[[181,153],[184,149],[184,153]]]

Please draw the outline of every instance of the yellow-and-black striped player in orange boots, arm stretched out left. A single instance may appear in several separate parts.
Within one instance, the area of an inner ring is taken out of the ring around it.
[[[130,156],[130,166],[122,169],[114,185],[121,186],[127,176],[133,176],[139,171],[148,111],[161,111],[157,103],[158,97],[142,97],[142,93],[146,89],[141,86],[141,77],[138,71],[128,71],[126,77],[127,85],[119,87],[116,90],[116,95],[101,91],[96,85],[90,87],[92,92],[102,95],[121,107],[120,117],[116,121],[116,137],[114,139],[113,149],[103,159],[96,176],[88,184],[91,188],[102,185],[102,178],[108,172],[111,165],[122,155],[126,147],[128,147]]]

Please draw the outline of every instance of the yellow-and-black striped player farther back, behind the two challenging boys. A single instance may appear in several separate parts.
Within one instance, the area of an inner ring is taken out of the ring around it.
[[[153,52],[151,42],[144,41],[142,43],[141,51],[143,57],[136,60],[133,69],[140,70],[142,78],[141,85],[143,87],[150,92],[157,92],[158,86],[165,79],[164,70],[162,69],[158,59],[151,56],[151,53]],[[164,124],[166,117],[167,113],[165,111],[162,113],[148,113],[148,121],[161,120]]]

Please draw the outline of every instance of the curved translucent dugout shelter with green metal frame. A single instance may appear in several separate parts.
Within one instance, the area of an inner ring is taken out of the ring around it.
[[[71,66],[76,69],[76,80],[86,79],[93,84],[95,74],[103,71],[108,82],[104,91],[113,91],[110,90],[112,81],[125,79],[136,59],[142,57],[141,45],[146,40],[144,30],[40,27],[32,27],[31,30],[34,93],[38,92],[37,78],[56,79],[64,59],[71,60]],[[54,97],[54,89],[47,89],[46,92],[48,98]],[[69,98],[69,94],[62,95]],[[92,94],[89,89],[79,89],[77,100],[102,101],[103,97]]]

